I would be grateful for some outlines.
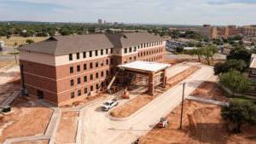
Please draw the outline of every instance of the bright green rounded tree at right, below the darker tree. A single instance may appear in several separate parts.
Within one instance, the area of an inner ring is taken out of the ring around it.
[[[220,84],[236,93],[243,93],[252,89],[252,82],[236,70],[230,70],[230,72],[220,75],[219,81]]]

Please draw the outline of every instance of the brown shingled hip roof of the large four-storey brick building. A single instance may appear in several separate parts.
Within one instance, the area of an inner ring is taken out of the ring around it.
[[[148,32],[124,34],[88,34],[75,36],[55,36],[38,43],[25,45],[20,50],[50,54],[67,55],[96,49],[124,48],[140,43],[164,40]]]

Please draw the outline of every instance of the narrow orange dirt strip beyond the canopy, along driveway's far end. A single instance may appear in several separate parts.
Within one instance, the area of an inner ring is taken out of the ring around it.
[[[177,73],[177,75],[173,76],[172,78],[167,79],[166,87],[170,89],[172,86],[180,83],[183,79],[188,78],[190,75],[198,71],[201,67],[199,66],[191,66],[187,70],[183,72]]]

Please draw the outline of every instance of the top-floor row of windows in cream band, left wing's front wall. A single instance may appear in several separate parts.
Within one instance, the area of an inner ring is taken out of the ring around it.
[[[105,54],[108,55],[108,49],[101,49],[101,50],[95,50],[95,55],[94,56],[98,56],[98,55],[104,55],[104,51]],[[93,51],[89,51],[89,57],[92,57],[92,52]],[[83,52],[83,58],[86,58],[86,51]],[[113,48],[110,49],[110,54],[113,54]],[[76,53],[76,58],[77,60],[80,59],[80,53]],[[73,54],[69,54],[69,60],[73,60]]]

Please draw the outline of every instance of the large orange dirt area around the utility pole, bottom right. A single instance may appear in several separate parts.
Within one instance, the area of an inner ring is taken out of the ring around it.
[[[154,128],[140,139],[141,144],[255,144],[256,126],[244,126],[232,135],[220,116],[220,107],[196,101],[184,101],[183,130],[178,130],[181,106],[167,115],[167,128]]]

